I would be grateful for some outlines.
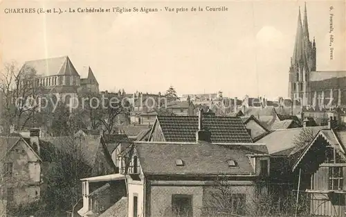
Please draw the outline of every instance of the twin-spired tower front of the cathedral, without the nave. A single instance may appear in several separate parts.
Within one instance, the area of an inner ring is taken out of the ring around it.
[[[309,39],[307,6],[304,7],[304,20],[298,12],[298,24],[295,35],[291,67],[289,68],[289,98],[297,99],[300,105],[311,105],[309,76],[316,71],[316,42]]]

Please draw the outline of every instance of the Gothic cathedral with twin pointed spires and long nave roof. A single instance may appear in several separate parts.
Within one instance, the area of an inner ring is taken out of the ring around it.
[[[289,68],[289,98],[313,110],[346,107],[346,71],[318,71],[316,42],[309,36],[307,6],[302,21],[298,14],[295,45]]]

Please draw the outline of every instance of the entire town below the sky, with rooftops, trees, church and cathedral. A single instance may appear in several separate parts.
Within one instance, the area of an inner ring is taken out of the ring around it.
[[[67,55],[6,64],[0,216],[346,216],[346,71],[318,71],[310,39],[305,6],[275,100],[100,91]]]

